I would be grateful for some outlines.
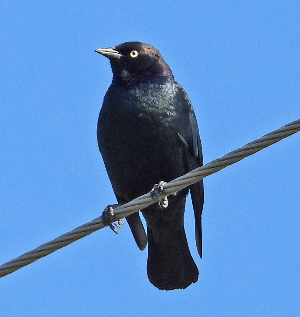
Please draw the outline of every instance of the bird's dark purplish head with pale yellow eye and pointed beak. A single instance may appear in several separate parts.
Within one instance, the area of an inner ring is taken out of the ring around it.
[[[153,46],[141,42],[125,42],[115,47],[96,49],[110,60],[113,80],[134,84],[144,81],[167,81],[173,78],[168,64]]]

